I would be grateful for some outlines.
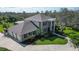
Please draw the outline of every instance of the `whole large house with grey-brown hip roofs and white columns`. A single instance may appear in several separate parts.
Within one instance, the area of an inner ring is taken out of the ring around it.
[[[55,32],[55,18],[43,14],[26,18],[24,22],[8,29],[9,35],[16,38],[19,42],[35,37],[36,35],[45,35],[48,32]]]

